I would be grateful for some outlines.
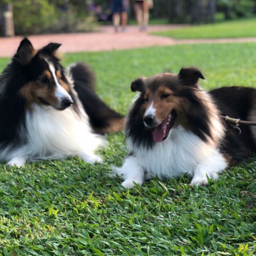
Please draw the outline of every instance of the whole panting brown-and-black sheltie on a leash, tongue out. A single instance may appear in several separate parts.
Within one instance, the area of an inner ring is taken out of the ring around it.
[[[188,172],[191,185],[207,184],[228,166],[256,151],[256,127],[228,126],[221,115],[256,121],[256,90],[225,87],[206,92],[196,68],[178,75],[138,78],[131,84],[140,94],[126,122],[130,150],[116,172],[123,186],[133,187],[151,176],[176,177]]]

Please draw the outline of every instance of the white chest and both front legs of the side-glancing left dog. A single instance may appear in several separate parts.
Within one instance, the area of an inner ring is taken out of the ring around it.
[[[78,116],[72,108],[55,110],[34,104],[26,112],[27,143],[9,152],[9,165],[21,166],[26,160],[61,159],[79,156],[86,162],[99,162],[94,150],[104,142],[92,133],[84,111]]]

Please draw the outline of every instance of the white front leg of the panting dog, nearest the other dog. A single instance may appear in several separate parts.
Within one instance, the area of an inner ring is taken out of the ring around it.
[[[122,186],[126,188],[133,188],[134,182],[141,185],[144,181],[144,169],[139,164],[136,156],[128,156],[123,166],[121,168],[116,167],[115,171],[124,179]]]

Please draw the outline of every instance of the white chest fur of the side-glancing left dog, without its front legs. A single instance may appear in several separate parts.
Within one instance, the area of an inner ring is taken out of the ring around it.
[[[86,147],[94,150],[99,146],[95,144],[97,136],[92,134],[88,117],[82,113],[80,118],[72,108],[59,111],[34,105],[33,112],[26,114],[26,127],[34,157],[75,156]]]

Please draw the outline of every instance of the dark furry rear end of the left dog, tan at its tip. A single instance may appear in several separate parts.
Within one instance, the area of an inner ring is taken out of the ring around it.
[[[85,64],[71,64],[68,71],[74,80],[74,89],[78,93],[84,110],[90,118],[95,132],[104,134],[118,132],[124,126],[124,117],[109,108],[95,93],[95,76]]]

